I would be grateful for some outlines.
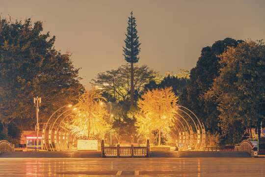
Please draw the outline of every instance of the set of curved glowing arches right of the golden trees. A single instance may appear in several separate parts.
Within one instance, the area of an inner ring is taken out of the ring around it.
[[[171,127],[171,138],[176,140],[179,150],[203,150],[206,133],[204,124],[184,106],[178,105]]]

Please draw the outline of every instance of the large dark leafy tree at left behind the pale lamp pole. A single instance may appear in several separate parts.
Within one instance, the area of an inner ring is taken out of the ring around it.
[[[32,25],[31,19],[0,17],[0,122],[4,132],[15,119],[20,128],[33,127],[33,97],[42,97],[42,124],[54,109],[75,101],[82,89],[71,54],[56,51],[55,36],[42,31],[40,21]]]

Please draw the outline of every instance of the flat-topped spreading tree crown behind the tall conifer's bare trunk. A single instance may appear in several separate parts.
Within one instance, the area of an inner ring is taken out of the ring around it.
[[[97,74],[96,79],[92,79],[91,84],[106,92],[112,101],[125,101],[130,96],[131,79],[130,79],[130,65],[122,65],[116,70],[110,70]],[[134,66],[134,98],[140,93],[144,85],[151,80],[155,80],[159,73],[150,69],[148,66]],[[110,97],[111,96],[111,97]]]

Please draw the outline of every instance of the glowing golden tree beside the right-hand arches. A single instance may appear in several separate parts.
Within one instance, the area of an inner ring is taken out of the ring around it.
[[[137,117],[138,130],[158,130],[159,143],[161,145],[161,131],[168,131],[170,125],[173,125],[174,114],[176,113],[176,104],[178,97],[172,91],[172,88],[148,90],[138,100],[139,114]]]

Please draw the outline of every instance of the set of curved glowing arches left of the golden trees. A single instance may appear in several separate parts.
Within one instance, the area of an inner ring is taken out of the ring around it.
[[[49,151],[72,150],[74,137],[62,126],[63,121],[77,114],[76,108],[63,106],[53,113],[42,129],[43,149]]]

